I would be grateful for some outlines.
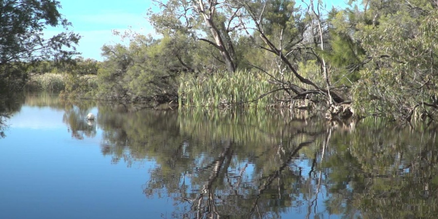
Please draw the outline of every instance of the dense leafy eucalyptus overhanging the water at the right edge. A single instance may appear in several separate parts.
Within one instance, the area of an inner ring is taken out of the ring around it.
[[[361,115],[410,121],[438,110],[436,1],[368,1],[355,37],[366,51],[353,87]]]

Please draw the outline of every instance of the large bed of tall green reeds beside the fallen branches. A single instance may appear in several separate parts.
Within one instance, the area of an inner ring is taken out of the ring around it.
[[[236,105],[276,107],[280,104],[278,100],[286,99],[287,95],[284,91],[269,93],[278,89],[276,85],[268,82],[269,79],[272,78],[266,73],[249,71],[215,73],[203,78],[194,78],[181,83],[178,91],[179,102],[185,106],[213,108]]]

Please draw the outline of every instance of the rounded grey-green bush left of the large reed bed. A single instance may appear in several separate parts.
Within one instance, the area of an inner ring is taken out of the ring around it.
[[[208,56],[194,52],[202,47],[181,33],[161,39],[134,34],[128,40],[129,46],[102,48],[106,60],[98,71],[98,96],[103,99],[172,100],[182,78],[204,71]]]

